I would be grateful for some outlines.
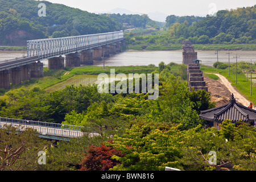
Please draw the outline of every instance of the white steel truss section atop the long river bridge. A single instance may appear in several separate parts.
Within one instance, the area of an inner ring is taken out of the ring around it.
[[[27,57],[49,59],[123,40],[123,31],[27,41]]]

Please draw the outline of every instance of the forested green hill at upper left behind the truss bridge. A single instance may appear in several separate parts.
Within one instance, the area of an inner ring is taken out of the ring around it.
[[[46,16],[39,16],[39,3]],[[26,40],[119,31],[116,19],[65,5],[34,0],[0,0],[0,45],[26,46]]]

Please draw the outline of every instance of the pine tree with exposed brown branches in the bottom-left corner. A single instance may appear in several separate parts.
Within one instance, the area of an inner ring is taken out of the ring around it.
[[[38,169],[38,152],[46,151],[51,142],[40,139],[36,130],[26,129],[19,134],[15,127],[0,130],[1,171],[34,171]]]

